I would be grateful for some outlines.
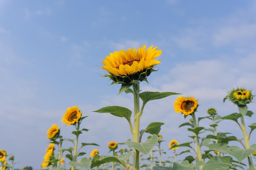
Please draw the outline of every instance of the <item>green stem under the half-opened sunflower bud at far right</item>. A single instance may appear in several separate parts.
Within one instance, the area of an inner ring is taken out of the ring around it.
[[[246,112],[247,113],[247,107],[243,107],[243,106],[238,106],[239,108],[239,112]],[[249,137],[247,136],[247,132],[246,132],[246,128],[245,128],[245,119],[244,119],[244,115],[241,114],[242,116],[240,117],[241,119],[241,130],[243,132],[243,136],[244,136],[244,140],[245,140],[245,149],[249,149],[250,148],[250,144],[249,144]],[[249,163],[249,170],[254,170],[254,165],[252,162],[252,156],[249,155],[248,156],[248,163]]]

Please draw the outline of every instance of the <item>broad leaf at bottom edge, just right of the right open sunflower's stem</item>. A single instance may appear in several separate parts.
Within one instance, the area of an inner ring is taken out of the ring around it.
[[[228,170],[232,167],[231,157],[212,157],[202,170]]]

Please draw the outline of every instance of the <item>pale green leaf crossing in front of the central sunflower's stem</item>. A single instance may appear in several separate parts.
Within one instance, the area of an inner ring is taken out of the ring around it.
[[[148,154],[148,152],[150,152],[150,150],[157,144],[157,142],[158,142],[158,137],[157,137],[157,135],[154,134],[151,138],[146,140],[146,142],[144,142],[144,143],[137,143],[134,141],[126,141],[126,142],[121,142],[119,144],[126,144],[132,148],[135,148],[139,152]]]

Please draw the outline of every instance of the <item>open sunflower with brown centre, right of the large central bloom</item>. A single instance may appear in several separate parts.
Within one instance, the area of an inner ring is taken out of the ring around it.
[[[177,97],[177,101],[174,102],[174,111],[182,113],[183,115],[192,115],[195,113],[198,107],[198,100],[194,97]]]

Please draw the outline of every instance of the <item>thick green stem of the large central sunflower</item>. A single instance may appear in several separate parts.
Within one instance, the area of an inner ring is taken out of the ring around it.
[[[133,97],[134,97],[134,129],[133,129],[133,141],[139,142],[139,82],[132,84]],[[133,169],[139,170],[139,151],[133,149]]]

